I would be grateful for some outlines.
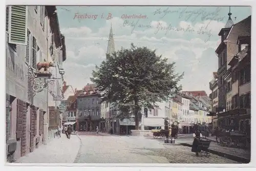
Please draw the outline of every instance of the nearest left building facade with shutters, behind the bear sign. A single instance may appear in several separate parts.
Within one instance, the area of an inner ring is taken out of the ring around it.
[[[6,8],[6,152],[15,160],[47,143],[53,131],[51,116],[56,97],[61,94],[61,79],[36,93],[36,64],[62,64],[66,52],[59,34],[55,6],[7,6]],[[17,12],[19,11],[19,12]],[[52,20],[52,21],[51,21]],[[17,27],[15,27],[17,25]],[[55,39],[51,39],[55,37]],[[53,45],[53,46],[51,46]],[[49,47],[54,53],[49,52]],[[53,77],[56,69],[50,69]],[[52,91],[51,91],[52,90]],[[55,90],[55,91],[54,91]],[[54,125],[58,126],[59,116]]]

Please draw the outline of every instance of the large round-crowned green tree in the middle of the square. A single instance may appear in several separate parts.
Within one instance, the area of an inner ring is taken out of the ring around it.
[[[167,101],[182,88],[178,82],[183,74],[175,72],[175,62],[167,63],[155,52],[132,43],[130,49],[106,55],[91,78],[103,101],[117,102],[122,118],[134,114],[136,129],[143,107],[153,109],[156,102]]]

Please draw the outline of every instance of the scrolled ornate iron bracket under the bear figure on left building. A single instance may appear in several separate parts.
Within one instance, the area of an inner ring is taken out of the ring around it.
[[[36,93],[44,91],[49,85],[53,85],[55,80],[60,80],[60,79],[62,78],[51,78],[50,73],[49,73],[49,77],[39,77],[37,76],[36,71],[31,66],[28,66],[28,84],[29,84],[28,99],[29,101],[32,99],[32,97],[35,96]]]

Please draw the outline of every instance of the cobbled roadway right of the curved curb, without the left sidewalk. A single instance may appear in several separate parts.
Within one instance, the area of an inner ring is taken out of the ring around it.
[[[196,157],[191,148],[162,145],[134,136],[84,136],[75,163],[238,163],[214,154]]]

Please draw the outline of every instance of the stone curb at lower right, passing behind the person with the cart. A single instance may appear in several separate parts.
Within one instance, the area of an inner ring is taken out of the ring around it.
[[[192,147],[192,145],[188,144],[188,143],[180,143],[180,144],[184,145],[184,146]],[[237,161],[237,162],[249,163],[251,161],[251,159],[247,159],[247,158],[244,158],[244,157],[223,153],[223,152],[216,151],[216,150],[209,149],[209,152],[212,153],[212,154],[216,154],[218,156],[221,156],[221,157],[225,157],[225,158],[230,159],[230,160]]]

